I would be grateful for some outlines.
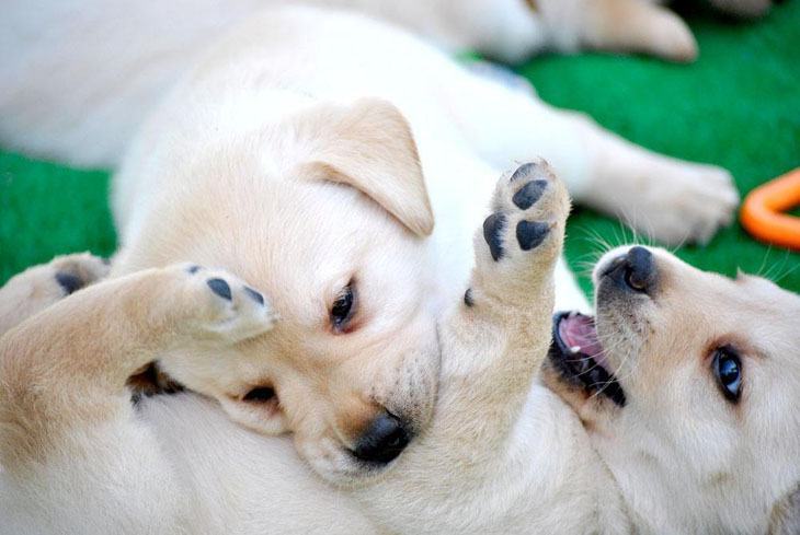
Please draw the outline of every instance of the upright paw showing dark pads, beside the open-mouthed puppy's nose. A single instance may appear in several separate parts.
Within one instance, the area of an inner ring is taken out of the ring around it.
[[[476,237],[478,287],[525,294],[549,280],[570,211],[567,188],[544,160],[525,163],[496,185],[492,213]],[[471,289],[465,296],[475,299]]]

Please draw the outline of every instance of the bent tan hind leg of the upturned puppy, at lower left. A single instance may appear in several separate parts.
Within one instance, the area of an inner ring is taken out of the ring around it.
[[[19,527],[10,533],[197,533],[185,527],[193,497],[125,383],[175,348],[226,358],[272,323],[242,281],[180,266],[98,283],[0,337],[0,502],[3,522]]]

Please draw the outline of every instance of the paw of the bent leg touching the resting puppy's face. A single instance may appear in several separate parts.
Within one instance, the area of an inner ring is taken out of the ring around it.
[[[222,270],[181,265],[178,271],[191,311],[187,322],[193,336],[229,344],[270,330],[277,319],[270,301],[259,290]]]

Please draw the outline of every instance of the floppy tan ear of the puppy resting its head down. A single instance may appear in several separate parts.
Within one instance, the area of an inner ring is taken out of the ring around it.
[[[433,231],[433,211],[411,128],[378,98],[348,106],[323,104],[302,120],[311,153],[302,176],[346,184],[369,196],[418,236]]]

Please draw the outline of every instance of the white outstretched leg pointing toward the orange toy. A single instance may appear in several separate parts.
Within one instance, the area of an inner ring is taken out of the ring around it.
[[[468,73],[442,85],[453,120],[495,167],[542,155],[576,202],[667,244],[707,242],[732,221],[739,195],[720,167],[656,154],[587,116]]]

